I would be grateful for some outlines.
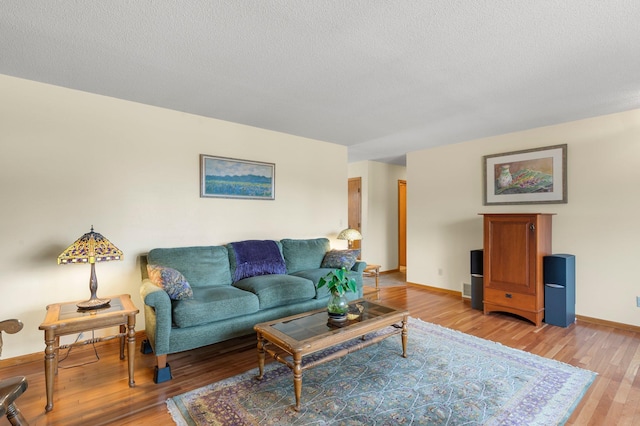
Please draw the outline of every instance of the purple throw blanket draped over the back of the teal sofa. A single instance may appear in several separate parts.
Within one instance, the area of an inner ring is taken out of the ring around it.
[[[248,240],[231,243],[236,257],[233,281],[256,275],[286,274],[287,266],[275,241]]]

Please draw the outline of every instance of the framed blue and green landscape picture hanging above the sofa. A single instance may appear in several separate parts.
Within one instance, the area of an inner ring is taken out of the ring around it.
[[[275,200],[276,165],[200,154],[200,197]]]

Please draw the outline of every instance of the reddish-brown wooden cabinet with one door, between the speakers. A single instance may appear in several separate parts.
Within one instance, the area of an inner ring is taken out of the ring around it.
[[[543,258],[551,254],[552,214],[484,214],[484,313],[544,318]]]

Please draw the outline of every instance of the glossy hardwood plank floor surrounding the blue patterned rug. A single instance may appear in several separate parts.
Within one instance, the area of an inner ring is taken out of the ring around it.
[[[395,279],[383,274],[383,279]],[[451,294],[415,285],[382,286],[380,301],[409,309],[413,317],[598,373],[577,406],[571,425],[640,424],[640,333],[579,322],[567,328],[531,323],[506,314],[483,315]],[[138,338],[141,339],[139,333]],[[411,334],[409,334],[411,338]],[[31,425],[173,424],[167,398],[256,368],[255,336],[170,355],[174,379],[153,383],[153,355],[136,350],[136,387],[128,387],[127,363],[115,340],[74,348],[60,364],[54,409],[45,414],[43,356],[0,362],[0,377],[26,375],[29,389],[18,400]],[[43,344],[44,349],[44,344]],[[411,354],[409,354],[411,356]],[[0,425],[9,424],[6,418]]]

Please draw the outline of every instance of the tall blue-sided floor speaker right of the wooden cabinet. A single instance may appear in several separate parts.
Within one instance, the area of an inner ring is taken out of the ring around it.
[[[545,256],[544,322],[567,327],[576,321],[576,257]]]

